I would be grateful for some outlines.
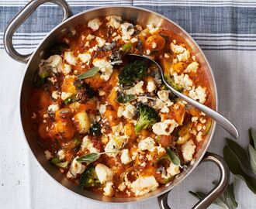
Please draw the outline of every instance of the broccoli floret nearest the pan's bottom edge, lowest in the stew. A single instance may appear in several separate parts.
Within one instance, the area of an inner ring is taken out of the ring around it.
[[[79,186],[81,188],[88,188],[88,187],[100,187],[101,183],[95,173],[95,167],[90,165],[81,173],[81,177],[79,179]]]

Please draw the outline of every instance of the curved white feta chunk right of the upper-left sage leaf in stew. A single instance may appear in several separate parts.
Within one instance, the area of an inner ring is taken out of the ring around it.
[[[92,63],[95,67],[100,68],[100,71],[102,73],[100,78],[104,81],[108,81],[113,71],[112,64],[105,59],[97,59],[97,58],[94,59]]]

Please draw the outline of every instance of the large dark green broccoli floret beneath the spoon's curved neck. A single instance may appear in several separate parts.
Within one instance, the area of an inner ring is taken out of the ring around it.
[[[123,67],[119,74],[120,84],[133,84],[135,81],[141,81],[147,73],[147,65],[143,61],[137,60]]]

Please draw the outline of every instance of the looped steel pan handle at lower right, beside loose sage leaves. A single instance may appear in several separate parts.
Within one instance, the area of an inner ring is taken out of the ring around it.
[[[209,205],[212,204],[213,201],[216,200],[220,196],[220,194],[223,193],[224,190],[226,190],[227,185],[230,181],[230,170],[223,157],[216,155],[212,152],[206,152],[206,155],[203,156],[203,159],[200,163],[202,162],[215,163],[220,170],[220,180],[216,187],[214,187],[213,190],[211,190],[205,198],[199,200],[199,202],[195,204],[192,209],[205,209],[209,207]],[[169,192],[157,197],[158,204],[161,209],[171,209],[171,207],[168,206],[168,193]]]

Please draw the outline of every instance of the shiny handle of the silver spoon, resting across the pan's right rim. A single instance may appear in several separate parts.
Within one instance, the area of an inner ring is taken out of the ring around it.
[[[182,98],[182,100],[188,102],[190,105],[194,106],[195,108],[198,108],[200,111],[204,112],[206,115],[209,115],[210,118],[213,118],[213,120],[215,120],[218,124],[220,124],[223,128],[225,128],[227,132],[230,133],[230,135],[238,139],[239,133],[237,131],[237,128],[230,121],[228,121],[227,118],[224,118],[223,115],[220,115],[220,113],[214,111],[211,108],[208,108],[206,105],[202,105],[198,101],[195,101],[192,98],[189,98],[184,94],[180,93],[179,91],[176,91],[166,81],[164,81],[164,84],[168,87],[168,89],[173,94],[175,94],[179,98]]]

